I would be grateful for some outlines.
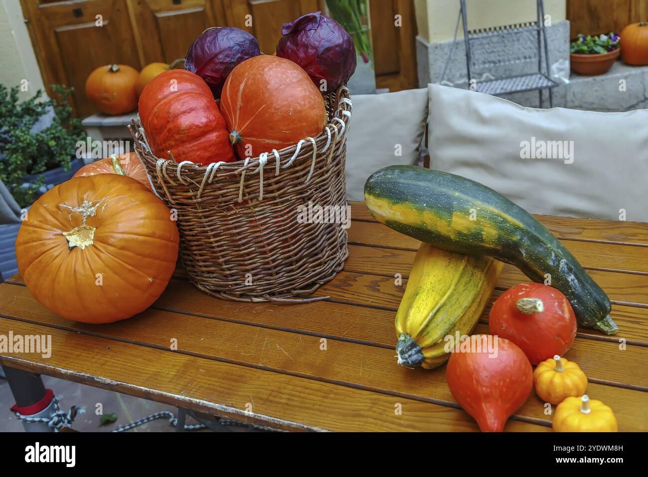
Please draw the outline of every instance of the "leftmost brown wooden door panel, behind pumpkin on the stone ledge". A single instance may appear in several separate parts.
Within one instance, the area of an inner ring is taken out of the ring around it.
[[[93,69],[110,63],[141,68],[126,0],[21,3],[47,93],[52,83],[74,87],[78,115],[95,112],[84,92]]]

